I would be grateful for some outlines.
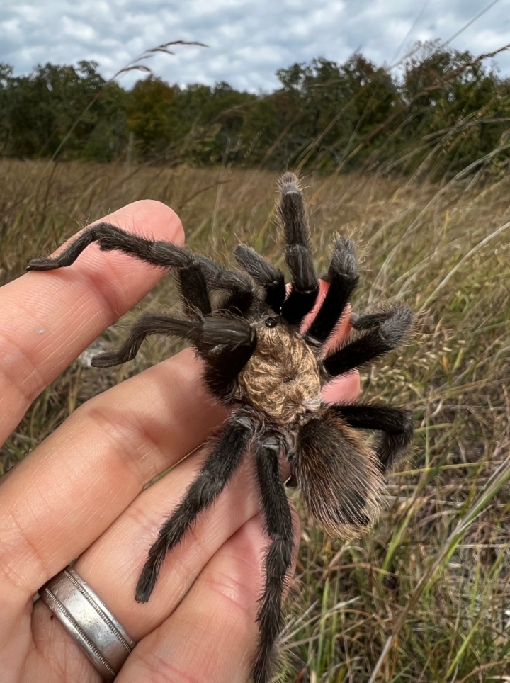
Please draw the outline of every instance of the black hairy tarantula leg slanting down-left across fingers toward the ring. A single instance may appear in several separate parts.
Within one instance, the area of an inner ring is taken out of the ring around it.
[[[136,587],[137,602],[147,602],[166,555],[181,542],[198,514],[210,507],[232,478],[253,436],[254,422],[242,409],[232,414],[217,446],[188,487],[183,499],[159,529]]]

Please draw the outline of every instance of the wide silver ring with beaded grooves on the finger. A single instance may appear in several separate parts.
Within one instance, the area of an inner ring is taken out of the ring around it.
[[[106,681],[113,681],[135,647],[100,597],[74,569],[64,569],[39,591]]]

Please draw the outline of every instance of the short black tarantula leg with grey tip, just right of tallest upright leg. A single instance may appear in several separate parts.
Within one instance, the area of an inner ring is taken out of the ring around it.
[[[354,244],[348,237],[335,240],[331,264],[323,279],[329,282],[329,288],[319,312],[305,334],[305,339],[312,344],[324,344],[358,285],[358,261],[354,254]]]

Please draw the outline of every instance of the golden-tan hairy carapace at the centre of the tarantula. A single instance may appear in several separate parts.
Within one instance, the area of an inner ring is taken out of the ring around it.
[[[256,326],[257,345],[237,380],[239,398],[275,422],[318,410],[321,385],[310,346],[283,324]]]

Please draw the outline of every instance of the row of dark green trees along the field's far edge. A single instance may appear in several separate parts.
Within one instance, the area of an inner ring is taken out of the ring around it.
[[[396,69],[361,53],[276,72],[270,93],[225,82],[181,87],[149,74],[132,89],[96,62],[0,64],[0,154],[96,162],[382,169],[436,174],[505,167],[510,78],[473,57],[416,44]]]

